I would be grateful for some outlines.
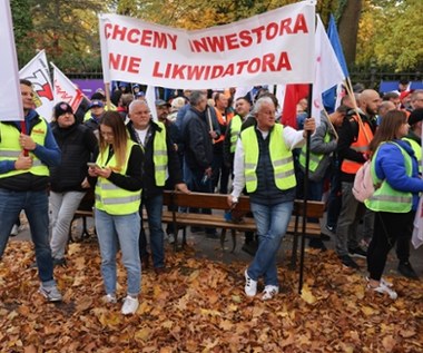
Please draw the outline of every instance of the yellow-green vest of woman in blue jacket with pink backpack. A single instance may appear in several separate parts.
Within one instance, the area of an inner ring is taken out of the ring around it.
[[[411,177],[412,171],[413,171],[412,170],[413,163],[412,163],[411,156],[399,144],[395,144],[395,143],[387,143],[387,144],[394,144],[400,148],[404,157],[406,175]],[[373,156],[371,173],[372,173],[373,184],[377,185],[382,183],[382,185],[378,189],[374,192],[372,197],[364,200],[364,204],[366,205],[367,208],[375,212],[407,213],[411,210],[413,206],[413,194],[395,190],[394,188],[391,187],[391,185],[386,180],[381,180],[376,176],[375,163],[376,163],[377,151],[381,148],[381,146],[376,149],[376,153]]]

